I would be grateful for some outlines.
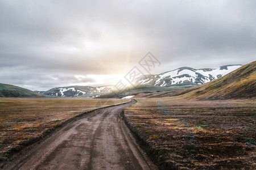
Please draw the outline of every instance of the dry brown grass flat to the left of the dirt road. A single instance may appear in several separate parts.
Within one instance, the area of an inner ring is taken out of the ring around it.
[[[0,98],[0,160],[5,159],[12,148],[72,117],[127,101],[130,100]]]

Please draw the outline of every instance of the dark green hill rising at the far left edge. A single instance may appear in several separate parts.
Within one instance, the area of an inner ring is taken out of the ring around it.
[[[0,83],[0,97],[43,97],[26,88]]]

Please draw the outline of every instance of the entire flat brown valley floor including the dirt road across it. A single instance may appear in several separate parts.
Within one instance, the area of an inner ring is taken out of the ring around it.
[[[256,100],[127,101],[0,99],[2,168],[256,168]]]

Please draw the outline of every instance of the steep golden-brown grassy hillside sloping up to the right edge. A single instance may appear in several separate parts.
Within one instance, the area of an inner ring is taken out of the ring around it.
[[[187,99],[248,99],[256,97],[256,61],[234,70],[222,78],[197,87],[137,97],[179,96]]]

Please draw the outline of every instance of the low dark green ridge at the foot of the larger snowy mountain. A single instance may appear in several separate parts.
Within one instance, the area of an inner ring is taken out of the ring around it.
[[[151,85],[138,85],[136,87],[130,87],[128,90],[125,91],[113,91],[109,94],[102,95],[97,97],[99,99],[106,99],[106,98],[122,98],[129,95],[138,95],[138,94],[152,94],[156,92],[167,92],[167,91],[175,91],[184,88],[194,87],[194,85],[177,85],[177,86],[170,86],[170,87],[161,87],[161,86],[151,86]]]

